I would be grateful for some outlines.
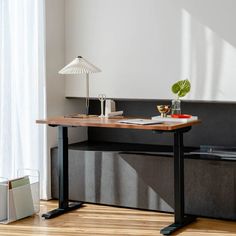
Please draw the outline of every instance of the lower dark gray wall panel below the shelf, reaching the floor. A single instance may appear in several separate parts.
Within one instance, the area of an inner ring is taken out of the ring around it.
[[[57,149],[52,194],[58,197]],[[119,152],[69,151],[70,199],[173,211],[173,158]],[[185,160],[186,212],[236,219],[235,162]]]

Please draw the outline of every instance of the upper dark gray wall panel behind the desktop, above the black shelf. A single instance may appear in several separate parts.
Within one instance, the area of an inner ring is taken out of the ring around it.
[[[170,104],[168,100],[116,100],[117,110],[127,116],[156,116],[157,104]],[[100,114],[99,101],[91,101],[91,113]],[[185,134],[187,146],[236,146],[236,103],[184,102],[182,112],[197,115],[202,124]],[[157,135],[150,131],[89,128],[89,140],[172,145],[169,134]]]

